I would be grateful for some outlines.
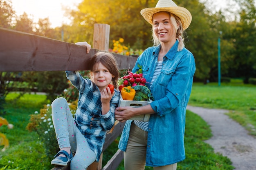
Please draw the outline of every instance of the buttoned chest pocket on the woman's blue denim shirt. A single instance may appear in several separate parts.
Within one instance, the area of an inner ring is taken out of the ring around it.
[[[157,83],[162,86],[167,86],[168,83],[171,81],[173,74],[175,74],[174,68],[162,69],[157,78]]]

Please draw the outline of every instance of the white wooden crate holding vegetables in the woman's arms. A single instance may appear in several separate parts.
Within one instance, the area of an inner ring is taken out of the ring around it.
[[[125,106],[131,106],[131,107],[141,107],[144,105],[148,105],[152,101],[128,101],[124,100],[122,96],[119,99],[118,107],[125,107]],[[150,114],[141,114],[138,116],[133,116],[129,120],[137,120],[137,121],[145,121],[147,122],[149,120]]]

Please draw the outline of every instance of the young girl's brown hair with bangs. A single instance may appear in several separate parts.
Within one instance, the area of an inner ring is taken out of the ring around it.
[[[112,84],[114,85],[115,89],[117,89],[117,81],[119,78],[119,70],[117,67],[117,60],[115,56],[109,52],[99,51],[97,52],[91,59],[90,62],[90,71],[93,71],[93,67],[95,64],[101,63],[104,65],[108,71],[114,75],[115,77],[112,78]]]

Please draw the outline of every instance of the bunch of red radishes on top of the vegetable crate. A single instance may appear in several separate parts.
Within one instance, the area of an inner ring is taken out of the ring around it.
[[[137,74],[137,73],[132,73],[129,72],[128,75],[123,76],[121,78],[119,78],[118,80],[118,88],[119,91],[121,91],[121,89],[123,87],[127,87],[127,86],[136,86],[136,85],[143,85],[145,86],[146,83],[146,78],[143,77],[143,74]]]

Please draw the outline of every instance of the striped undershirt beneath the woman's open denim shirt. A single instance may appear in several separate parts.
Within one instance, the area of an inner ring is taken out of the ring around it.
[[[162,69],[162,65],[163,65],[163,61],[157,61],[157,65],[155,67],[155,71],[153,74],[153,78],[151,80],[150,83],[150,87],[149,89],[151,90],[151,86],[153,84],[153,82],[155,81],[155,78],[160,74],[161,69]],[[144,122],[144,121],[133,121],[135,125],[137,125],[139,128],[141,128],[144,131],[148,131],[148,122]]]

